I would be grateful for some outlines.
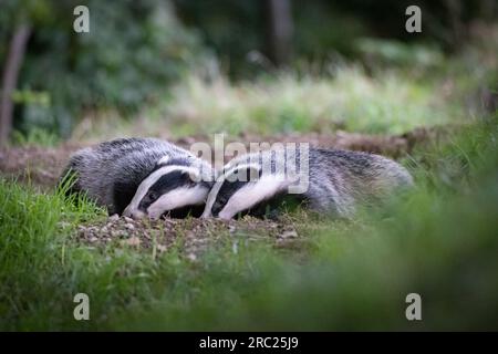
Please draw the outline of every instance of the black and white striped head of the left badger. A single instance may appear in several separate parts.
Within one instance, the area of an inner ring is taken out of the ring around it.
[[[203,180],[201,167],[175,164],[163,158],[156,169],[139,184],[123,215],[151,219],[163,215],[195,216],[204,207],[211,186],[210,181]]]

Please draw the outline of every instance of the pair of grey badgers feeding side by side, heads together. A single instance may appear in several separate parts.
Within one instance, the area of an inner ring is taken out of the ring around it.
[[[413,184],[385,157],[322,148],[270,149],[239,156],[221,171],[170,143],[124,138],[74,154],[63,174],[69,194],[84,192],[110,215],[132,218],[261,216],[289,200],[336,217]],[[203,211],[204,210],[204,211]]]

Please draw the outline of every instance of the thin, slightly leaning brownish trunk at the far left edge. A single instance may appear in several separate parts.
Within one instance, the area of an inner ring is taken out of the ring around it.
[[[22,24],[15,29],[12,41],[10,42],[9,53],[4,63],[0,101],[0,146],[7,143],[12,129],[12,93],[18,83],[19,70],[24,59],[24,51],[30,33],[30,27]]]

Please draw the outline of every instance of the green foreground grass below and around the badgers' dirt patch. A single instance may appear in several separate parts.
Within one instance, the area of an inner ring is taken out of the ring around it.
[[[405,164],[417,188],[353,221],[290,215],[299,249],[243,235],[196,262],[77,241],[104,216],[0,181],[1,330],[497,330],[497,121]],[[237,252],[234,243],[237,242]],[[91,320],[73,319],[87,293]],[[423,321],[405,319],[405,296]]]

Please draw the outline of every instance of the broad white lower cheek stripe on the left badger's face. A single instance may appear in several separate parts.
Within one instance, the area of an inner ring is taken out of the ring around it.
[[[151,219],[158,219],[166,211],[203,204],[207,194],[208,188],[200,185],[174,189],[154,201],[147,208],[147,215]]]

